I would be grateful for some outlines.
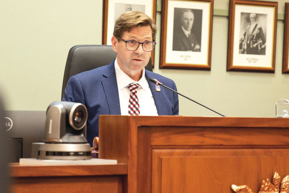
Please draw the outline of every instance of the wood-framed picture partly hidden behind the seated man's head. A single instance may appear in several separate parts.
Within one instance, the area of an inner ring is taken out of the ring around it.
[[[114,9],[115,4],[118,4],[117,9]],[[152,19],[156,18],[157,0],[103,0],[103,14],[102,14],[102,44],[111,45],[110,38],[112,37],[114,22],[117,17],[125,12],[125,5],[132,5],[131,10],[142,11]],[[145,6],[149,5],[150,8]],[[123,11],[122,11],[123,10]],[[117,13],[116,13],[117,11]],[[108,35],[110,33],[111,35]],[[157,44],[158,45],[158,44]],[[151,52],[151,62],[154,67],[155,50]]]

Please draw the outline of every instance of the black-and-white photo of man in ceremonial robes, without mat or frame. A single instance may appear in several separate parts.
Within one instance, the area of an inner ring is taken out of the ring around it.
[[[241,20],[245,16],[249,16],[250,23],[246,24],[246,28],[244,29],[244,33],[241,32],[242,36],[239,42],[239,53],[240,54],[257,54],[257,55],[265,55],[266,48],[266,38],[263,33],[262,26],[257,23],[257,14],[255,13],[241,13]],[[261,19],[262,18],[262,19]],[[266,15],[262,14],[262,17],[259,18],[259,21],[266,20]],[[242,23],[241,23],[242,25]],[[243,24],[244,25],[244,24]],[[240,28],[242,30],[242,26]]]

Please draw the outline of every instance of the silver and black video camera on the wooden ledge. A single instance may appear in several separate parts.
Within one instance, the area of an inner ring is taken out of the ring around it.
[[[90,159],[86,140],[86,106],[76,102],[52,102],[46,111],[45,139],[38,147],[38,159]]]

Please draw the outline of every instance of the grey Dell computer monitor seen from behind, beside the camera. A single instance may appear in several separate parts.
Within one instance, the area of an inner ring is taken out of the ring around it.
[[[32,143],[45,138],[46,111],[5,111],[4,128],[12,149],[10,162],[30,158]]]

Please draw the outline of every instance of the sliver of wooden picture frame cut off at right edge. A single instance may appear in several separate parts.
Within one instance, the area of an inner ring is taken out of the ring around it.
[[[283,68],[282,73],[289,73],[288,58],[289,58],[289,3],[285,3],[284,16],[284,46],[283,46]]]

